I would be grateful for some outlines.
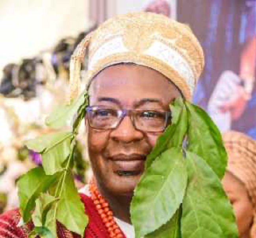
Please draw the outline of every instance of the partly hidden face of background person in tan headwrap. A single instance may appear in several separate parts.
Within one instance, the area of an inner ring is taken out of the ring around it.
[[[247,237],[253,221],[253,207],[247,190],[244,184],[229,172],[225,173],[222,184],[234,208],[239,237]]]

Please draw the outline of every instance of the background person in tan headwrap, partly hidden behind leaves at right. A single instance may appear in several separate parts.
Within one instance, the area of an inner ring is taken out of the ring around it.
[[[223,186],[234,207],[239,238],[255,238],[256,141],[236,131],[225,133],[223,140],[228,153]]]

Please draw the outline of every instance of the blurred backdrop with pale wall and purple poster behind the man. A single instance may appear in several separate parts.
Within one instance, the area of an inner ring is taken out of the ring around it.
[[[152,11],[191,27],[206,57],[194,103],[222,132],[256,139],[255,0],[1,0],[0,212],[17,207],[17,179],[40,166],[40,155],[24,140],[49,132],[44,121],[65,100],[74,48],[104,20],[131,11]],[[82,131],[78,187],[89,167],[84,143]]]

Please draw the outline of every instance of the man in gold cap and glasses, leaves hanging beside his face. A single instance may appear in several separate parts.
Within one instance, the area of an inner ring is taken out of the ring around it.
[[[78,96],[87,48],[87,88]],[[87,35],[71,59],[70,105],[46,120],[59,128],[76,113],[72,131],[27,142],[43,168],[18,182],[26,224],[7,212],[0,237],[27,237],[34,225],[31,234],[43,237],[236,238],[220,182],[221,135],[189,103],[203,65],[191,30],[162,15],[121,15]],[[79,197],[72,167],[83,118],[93,178]]]

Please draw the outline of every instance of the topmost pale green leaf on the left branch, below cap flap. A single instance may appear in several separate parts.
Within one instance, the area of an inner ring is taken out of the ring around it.
[[[46,118],[46,125],[56,129],[71,125],[72,118],[83,103],[87,104],[87,94],[84,92],[70,105],[61,105],[54,109],[50,116]]]

